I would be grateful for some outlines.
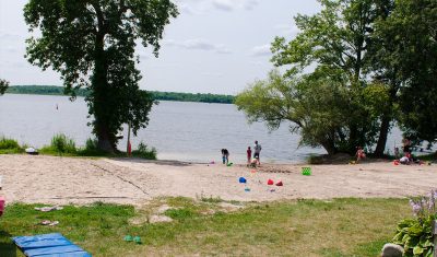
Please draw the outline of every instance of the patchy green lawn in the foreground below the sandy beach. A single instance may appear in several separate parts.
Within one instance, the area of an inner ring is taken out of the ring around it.
[[[60,232],[94,256],[378,256],[397,222],[411,215],[405,199],[333,199],[249,203],[226,213],[214,201],[166,198],[170,223],[133,224],[152,213],[149,206],[95,203],[38,212],[33,205],[11,205],[0,219],[0,256],[15,256],[10,236]],[[214,209],[213,214],[203,214]],[[56,227],[38,225],[58,220]],[[147,219],[143,219],[147,220]],[[123,242],[141,236],[143,244]],[[21,256],[21,255],[17,255]]]

